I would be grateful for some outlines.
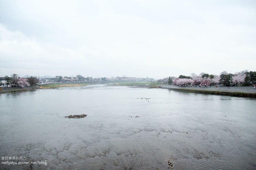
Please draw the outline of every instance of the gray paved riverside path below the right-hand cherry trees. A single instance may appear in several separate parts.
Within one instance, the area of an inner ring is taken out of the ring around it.
[[[191,87],[191,86],[180,86],[180,85],[159,85],[160,87],[170,88],[170,89],[194,89],[194,90],[209,90],[209,91],[220,91],[220,92],[244,92],[244,93],[256,93],[256,90],[253,89],[252,86],[245,86],[245,87]]]

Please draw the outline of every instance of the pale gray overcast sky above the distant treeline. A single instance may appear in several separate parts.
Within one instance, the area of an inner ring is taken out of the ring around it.
[[[255,0],[0,0],[0,76],[256,71],[255,33]]]

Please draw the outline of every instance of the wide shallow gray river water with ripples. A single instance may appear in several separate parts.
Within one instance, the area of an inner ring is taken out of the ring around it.
[[[0,94],[0,167],[256,169],[255,111],[250,98],[124,86]]]

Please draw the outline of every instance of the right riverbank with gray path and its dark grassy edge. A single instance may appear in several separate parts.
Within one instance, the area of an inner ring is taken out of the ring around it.
[[[160,85],[159,87],[162,89],[170,89],[170,90],[176,90],[176,91],[256,98],[256,90],[253,88],[248,89],[248,87],[244,87],[244,88],[217,87],[216,88],[216,87],[191,87],[191,86],[178,86],[178,85]]]

